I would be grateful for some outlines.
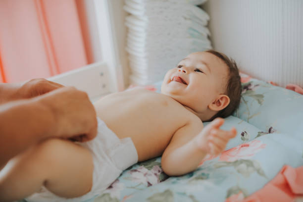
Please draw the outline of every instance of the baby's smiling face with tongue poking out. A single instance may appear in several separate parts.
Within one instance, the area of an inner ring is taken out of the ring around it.
[[[209,103],[225,93],[227,70],[227,65],[209,52],[191,53],[166,73],[161,93],[197,113],[205,112]]]

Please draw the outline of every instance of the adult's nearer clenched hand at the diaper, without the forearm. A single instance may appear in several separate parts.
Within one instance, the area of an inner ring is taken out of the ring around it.
[[[80,142],[96,136],[96,111],[85,92],[62,87],[37,99],[52,111],[55,124],[51,136]]]

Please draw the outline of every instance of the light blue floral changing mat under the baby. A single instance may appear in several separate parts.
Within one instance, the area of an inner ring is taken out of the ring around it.
[[[284,165],[303,165],[303,96],[242,77],[242,99],[222,129],[237,129],[224,152],[207,156],[194,172],[168,177],[161,157],[124,170],[87,202],[238,202],[261,189]],[[136,88],[160,92],[161,82]],[[204,125],[208,123],[205,122]]]

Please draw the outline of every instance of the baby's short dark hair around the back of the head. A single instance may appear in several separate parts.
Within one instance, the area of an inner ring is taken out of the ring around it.
[[[235,60],[228,58],[224,53],[215,50],[206,50],[205,52],[209,52],[219,57],[228,66],[228,79],[225,95],[229,97],[230,102],[224,109],[220,110],[209,120],[207,120],[212,121],[216,117],[225,118],[231,115],[236,110],[236,108],[238,108],[241,100],[242,86],[241,77],[239,75],[239,70]]]

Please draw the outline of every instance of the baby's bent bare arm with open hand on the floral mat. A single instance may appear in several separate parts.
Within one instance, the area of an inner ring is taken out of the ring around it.
[[[220,130],[224,119],[216,118],[203,128],[200,121],[192,121],[180,128],[165,149],[161,159],[163,171],[168,175],[183,175],[197,169],[207,153],[224,151],[229,139],[236,137],[237,131]],[[198,135],[197,135],[198,134]]]

